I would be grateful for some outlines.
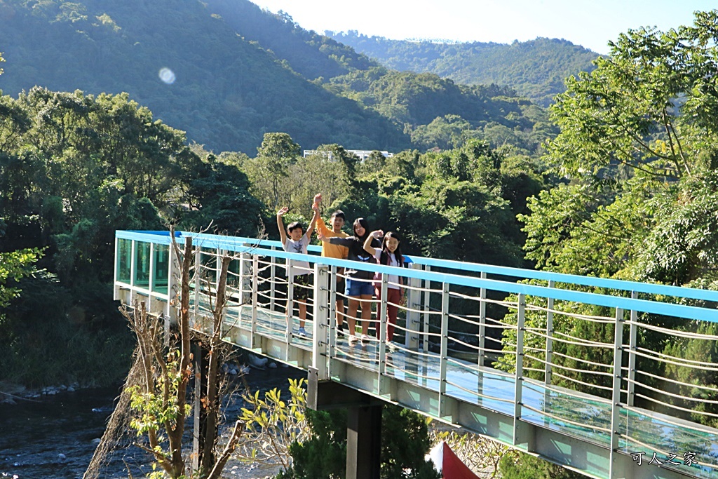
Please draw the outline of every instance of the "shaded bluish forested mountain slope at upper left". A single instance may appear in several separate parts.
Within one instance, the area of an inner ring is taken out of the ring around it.
[[[309,83],[197,0],[2,0],[0,51],[5,94],[126,91],[212,149],[254,154],[266,131],[305,147],[409,146],[378,113]],[[160,80],[161,68],[174,83]]]

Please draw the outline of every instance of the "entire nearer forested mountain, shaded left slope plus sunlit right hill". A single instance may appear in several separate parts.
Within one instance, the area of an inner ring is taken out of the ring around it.
[[[34,85],[127,92],[215,151],[253,154],[267,131],[307,149],[394,152],[446,149],[467,136],[532,152],[548,137],[541,125],[534,134],[543,113],[524,115],[531,105],[511,90],[391,73],[247,0],[0,0],[0,51],[5,94]],[[162,68],[174,81],[159,78]]]

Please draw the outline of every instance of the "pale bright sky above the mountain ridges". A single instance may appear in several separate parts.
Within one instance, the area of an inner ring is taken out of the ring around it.
[[[692,24],[716,0],[254,0],[286,11],[306,29],[358,30],[392,39],[432,38],[510,43],[564,38],[595,52],[638,27]]]

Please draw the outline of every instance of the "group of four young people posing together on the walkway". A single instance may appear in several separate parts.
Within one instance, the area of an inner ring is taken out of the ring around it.
[[[312,233],[316,229],[317,237],[322,241],[322,256],[327,258],[348,259],[363,263],[378,263],[387,266],[404,266],[404,256],[401,255],[399,243],[401,238],[393,231],[384,233],[382,230],[369,232],[369,223],[365,218],[357,218],[353,223],[353,234],[342,231],[346,218],[342,210],[336,210],[330,218],[330,226],[322,220],[319,212],[319,205],[322,202],[322,195],[314,196],[312,203],[312,220],[309,223],[306,233],[302,223],[295,221],[290,223],[286,230],[282,217],[289,211],[286,206],[280,208],[276,213],[276,223],[279,227],[281,243],[284,251],[289,253],[307,254],[307,246],[312,239]],[[294,284],[294,298],[299,304],[299,335],[306,336],[304,323],[307,319],[307,300],[310,299],[312,289],[312,273],[307,261],[294,261],[287,271],[289,282]],[[386,294],[386,340],[389,348],[393,349],[391,343],[396,326],[396,316],[400,304],[404,304],[404,291],[402,288],[401,276],[390,274],[387,278]],[[346,334],[346,323],[349,323],[349,343],[354,345],[361,340],[366,343],[370,340],[369,323],[371,322],[371,304],[373,298],[381,299],[381,274],[374,274],[371,271],[361,269],[338,269],[337,270],[337,301],[336,320],[337,329]],[[341,293],[344,295],[342,296]],[[345,312],[344,298],[348,299],[348,310]],[[288,302],[289,304],[289,302]],[[356,334],[357,312],[361,310],[361,337]],[[287,314],[291,317],[292,312],[289,306]],[[376,328],[378,331],[378,328]]]

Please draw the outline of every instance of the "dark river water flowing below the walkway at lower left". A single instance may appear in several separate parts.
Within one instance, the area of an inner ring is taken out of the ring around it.
[[[261,394],[275,387],[286,391],[288,378],[306,377],[304,371],[281,367],[266,371],[252,369],[244,376],[249,389],[259,389],[263,391]],[[38,401],[0,404],[0,478],[82,478],[118,393],[118,389],[81,390]],[[242,406],[240,395],[230,397],[225,410],[229,424],[234,423]],[[149,456],[138,447],[123,447],[113,453],[101,477],[126,479],[127,466],[134,477],[144,477],[150,463]],[[276,472],[276,467],[235,461],[225,468],[225,477],[265,478]]]

